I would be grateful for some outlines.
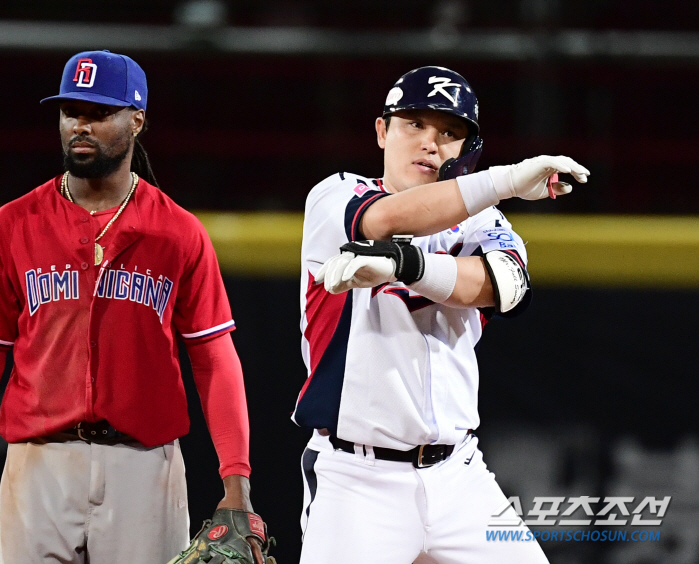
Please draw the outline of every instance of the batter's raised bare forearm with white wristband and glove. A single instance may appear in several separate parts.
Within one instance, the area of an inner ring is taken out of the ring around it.
[[[573,159],[542,155],[516,165],[495,166],[487,171],[423,184],[371,205],[361,220],[367,239],[388,240],[393,235],[432,235],[461,223],[500,200],[519,197],[539,200],[551,194],[567,194],[569,184],[547,180],[559,172],[587,182],[590,172]]]

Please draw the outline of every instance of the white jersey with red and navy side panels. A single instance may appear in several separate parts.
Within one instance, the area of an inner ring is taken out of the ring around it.
[[[308,196],[301,249],[308,379],[293,419],[348,441],[398,450],[459,443],[479,424],[481,312],[436,304],[400,282],[339,295],[313,284],[341,245],[364,238],[362,215],[382,197],[390,195],[380,180],[348,173],[327,178]],[[526,263],[522,239],[494,207],[413,244],[453,256],[505,250]]]

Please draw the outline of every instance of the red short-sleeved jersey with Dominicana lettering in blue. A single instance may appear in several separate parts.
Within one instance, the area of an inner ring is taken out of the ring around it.
[[[60,179],[0,208],[0,345],[14,346],[0,435],[106,419],[146,446],[172,441],[189,430],[177,336],[235,327],[211,241],[141,179],[94,266],[99,221]]]

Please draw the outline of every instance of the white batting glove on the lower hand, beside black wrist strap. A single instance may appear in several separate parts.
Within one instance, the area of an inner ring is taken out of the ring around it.
[[[352,288],[374,288],[395,282],[396,263],[388,257],[356,256],[343,252],[329,258],[316,275],[316,284],[324,283],[331,294],[341,294]]]

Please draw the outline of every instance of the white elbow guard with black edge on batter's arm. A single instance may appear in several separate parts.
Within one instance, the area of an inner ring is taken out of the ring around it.
[[[491,251],[483,256],[493,283],[495,311],[505,317],[523,312],[531,302],[529,274],[516,252]]]

